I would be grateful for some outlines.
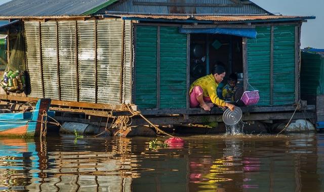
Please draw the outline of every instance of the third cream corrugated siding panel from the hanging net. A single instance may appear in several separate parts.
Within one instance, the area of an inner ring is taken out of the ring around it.
[[[75,21],[59,21],[59,62],[62,101],[77,101]]]

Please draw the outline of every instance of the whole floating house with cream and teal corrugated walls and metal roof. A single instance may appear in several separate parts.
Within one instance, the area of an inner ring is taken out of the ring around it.
[[[221,109],[188,100],[190,83],[216,63],[239,74],[243,90],[259,90],[257,105],[241,107],[243,120],[290,119],[297,104],[304,113],[293,118],[315,117],[300,102],[301,26],[312,16],[274,15],[247,0],[13,0],[0,13],[15,22],[1,30],[8,37],[17,21],[23,31],[29,76],[25,93],[0,99],[51,98],[60,120],[98,122],[127,115],[130,104],[157,125],[221,122]]]

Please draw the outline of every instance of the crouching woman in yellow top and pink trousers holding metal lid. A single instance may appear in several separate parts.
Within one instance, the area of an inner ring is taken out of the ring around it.
[[[190,107],[200,106],[205,111],[210,111],[215,105],[224,108],[228,107],[231,111],[235,106],[218,98],[216,89],[225,77],[225,69],[221,65],[215,65],[213,73],[200,77],[190,85]]]

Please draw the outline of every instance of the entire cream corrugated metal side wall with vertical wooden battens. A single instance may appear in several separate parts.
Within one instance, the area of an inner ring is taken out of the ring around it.
[[[55,21],[26,21],[25,31],[27,70],[31,81],[28,96],[43,97],[43,72],[47,98],[59,100],[60,87],[63,101],[95,103],[97,99],[97,103],[118,104],[120,93],[123,93],[122,102],[131,102],[131,21],[125,22],[124,45],[121,19],[58,21],[57,28]],[[120,84],[122,62],[123,91]]]

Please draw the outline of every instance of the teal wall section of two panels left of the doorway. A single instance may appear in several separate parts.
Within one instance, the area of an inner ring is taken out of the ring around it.
[[[157,108],[157,40],[160,42],[160,109],[186,108],[187,35],[178,27],[136,27],[135,104]]]

